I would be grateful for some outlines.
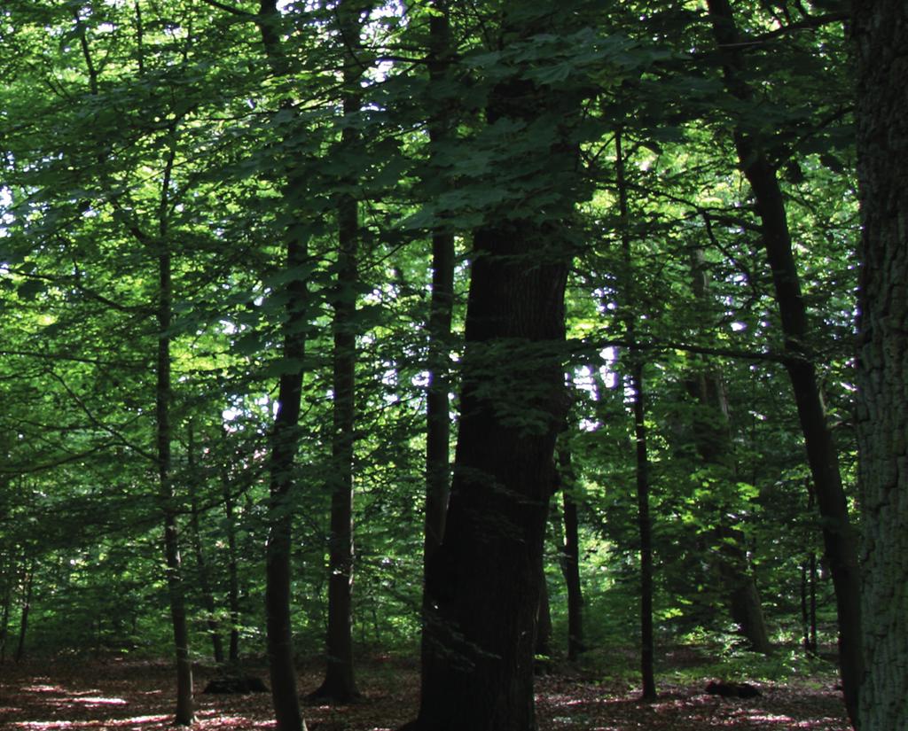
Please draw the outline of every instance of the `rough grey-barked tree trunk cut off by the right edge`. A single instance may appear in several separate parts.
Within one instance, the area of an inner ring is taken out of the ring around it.
[[[908,728],[908,5],[857,0],[861,731]]]

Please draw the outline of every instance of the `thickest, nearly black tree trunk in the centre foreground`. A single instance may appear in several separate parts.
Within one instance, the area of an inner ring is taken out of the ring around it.
[[[489,122],[535,118],[535,93],[522,81],[499,84]],[[548,160],[556,170],[573,169],[574,156],[564,149],[553,149]],[[559,203],[568,219],[568,200]],[[444,541],[429,561],[428,647],[419,718],[410,728],[535,727],[539,563],[565,404],[558,356],[565,239],[562,224],[540,224],[528,214],[502,216],[474,237],[454,479]]]

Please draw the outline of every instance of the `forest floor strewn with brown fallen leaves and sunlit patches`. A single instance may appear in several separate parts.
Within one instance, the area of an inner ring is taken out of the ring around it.
[[[694,663],[696,665],[697,663]],[[689,665],[689,664],[688,664]],[[703,666],[704,663],[699,663]],[[537,681],[540,731],[848,731],[834,675],[798,674],[782,681],[748,678],[761,697],[723,698],[706,694],[709,677],[691,672],[683,658],[666,668],[654,703],[639,700],[637,688],[616,677],[596,679],[590,671],[556,668]],[[680,670],[678,668],[681,668]],[[247,668],[267,677],[261,665]],[[712,670],[708,668],[699,668]],[[362,702],[342,708],[304,708],[310,731],[392,731],[415,715],[418,668],[413,662],[371,658],[360,665]],[[197,690],[216,675],[195,671]],[[600,674],[601,675],[601,674]],[[667,678],[667,679],[666,679]],[[317,687],[317,665],[301,668],[302,690]],[[197,693],[195,726],[211,729],[273,728],[271,695]],[[116,729],[161,731],[171,726],[173,672],[167,663],[112,658],[30,661],[0,667],[0,729]]]

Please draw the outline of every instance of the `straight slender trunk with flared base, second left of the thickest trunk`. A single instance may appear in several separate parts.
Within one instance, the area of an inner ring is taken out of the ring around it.
[[[342,0],[338,23],[344,42],[344,117],[360,112],[360,16],[370,4]],[[352,126],[341,132],[341,150],[351,151],[360,142]],[[355,185],[349,172],[341,185]],[[360,697],[353,676],[353,446],[356,419],[356,288],[360,216],[357,200],[348,192],[338,199],[337,283],[331,306],[334,335],[333,390],[334,430],[331,439],[331,531],[329,538],[328,636],[325,679],[312,698],[331,703],[350,703]]]

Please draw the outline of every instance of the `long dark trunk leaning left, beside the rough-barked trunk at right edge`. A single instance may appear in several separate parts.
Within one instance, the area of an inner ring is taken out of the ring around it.
[[[737,99],[748,102],[753,98],[753,92],[743,77],[745,59],[740,50],[740,37],[731,5],[728,0],[708,0],[707,5],[722,57],[725,85]],[[772,269],[775,300],[785,335],[785,369],[795,393],[807,462],[814,478],[823,523],[826,557],[833,574],[845,707],[856,725],[858,689],[864,676],[857,541],[848,518],[838,453],[826,423],[823,396],[808,345],[810,330],[807,312],[792,255],[782,190],[760,137],[753,132],[745,132],[739,126],[735,130],[735,147],[745,178],[754,191],[757,214],[763,224],[762,239]]]

